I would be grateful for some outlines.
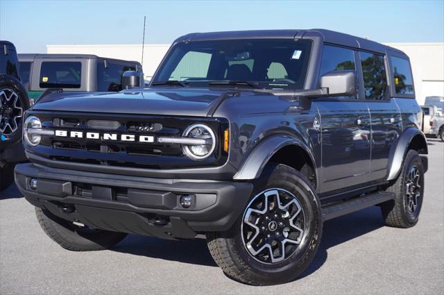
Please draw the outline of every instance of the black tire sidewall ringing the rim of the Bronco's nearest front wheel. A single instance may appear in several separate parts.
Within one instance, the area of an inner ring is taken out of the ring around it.
[[[264,172],[265,175],[255,183],[251,199],[260,192],[271,188],[286,189],[295,195],[305,214],[302,240],[296,252],[291,254],[288,259],[275,264],[259,262],[248,253],[241,237],[243,212],[232,228],[234,236],[232,250],[236,253],[231,254],[240,256],[244,265],[238,265],[238,267],[248,269],[264,282],[284,282],[299,276],[316,254],[322,235],[321,207],[313,187],[298,171],[285,165],[273,165],[267,168]]]

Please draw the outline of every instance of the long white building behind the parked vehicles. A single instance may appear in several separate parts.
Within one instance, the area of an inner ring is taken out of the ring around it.
[[[413,69],[416,98],[424,103],[426,96],[444,96],[444,43],[385,43],[407,53]],[[142,67],[146,80],[169,49],[169,44],[146,44]],[[87,53],[106,58],[142,61],[142,45],[47,45],[47,53]]]

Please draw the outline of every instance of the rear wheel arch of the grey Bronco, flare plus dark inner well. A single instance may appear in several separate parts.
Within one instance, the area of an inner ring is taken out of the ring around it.
[[[392,149],[390,155],[387,180],[395,180],[398,177],[405,155],[411,149],[418,151],[420,155],[427,155],[428,153],[425,135],[417,128],[407,128],[398,138],[398,143]],[[427,165],[427,160],[425,159],[425,157],[422,158],[422,161]],[[425,169],[427,170],[427,167]]]

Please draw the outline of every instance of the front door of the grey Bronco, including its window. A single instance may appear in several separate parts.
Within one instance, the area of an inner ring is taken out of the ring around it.
[[[325,45],[319,77],[330,71],[356,70],[355,51]],[[321,193],[341,192],[368,181],[370,112],[358,96],[314,101],[321,115]]]

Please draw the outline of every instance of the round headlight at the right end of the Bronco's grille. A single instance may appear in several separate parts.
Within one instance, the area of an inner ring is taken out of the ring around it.
[[[205,144],[183,145],[182,150],[188,158],[203,160],[209,157],[216,147],[216,137],[210,127],[203,124],[189,126],[183,133],[184,137],[205,140]]]

